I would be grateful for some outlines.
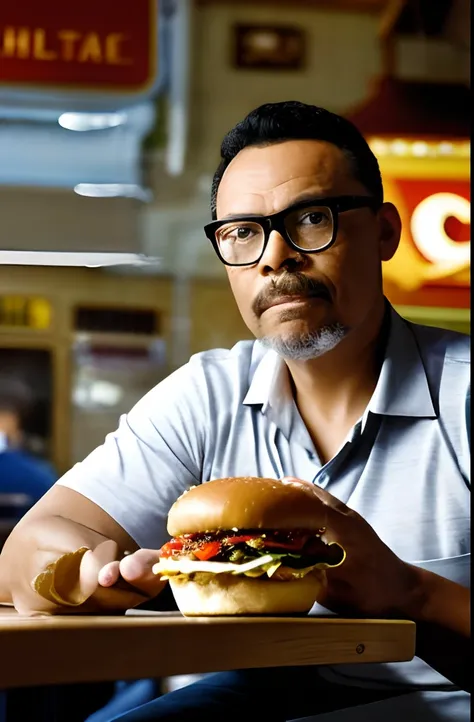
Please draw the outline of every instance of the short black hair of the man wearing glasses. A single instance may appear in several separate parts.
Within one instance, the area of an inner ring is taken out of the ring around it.
[[[264,147],[287,140],[323,140],[340,148],[351,162],[354,176],[383,203],[383,184],[377,158],[360,131],[346,118],[297,100],[265,103],[237,123],[222,141],[221,162],[212,181],[211,211],[216,218],[219,184],[229,163],[244,148]]]

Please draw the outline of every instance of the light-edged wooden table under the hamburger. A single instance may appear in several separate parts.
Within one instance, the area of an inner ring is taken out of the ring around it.
[[[402,662],[408,621],[153,616],[22,617],[0,607],[0,689],[244,667]]]

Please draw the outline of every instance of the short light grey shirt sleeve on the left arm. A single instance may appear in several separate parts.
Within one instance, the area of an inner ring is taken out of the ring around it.
[[[140,547],[168,538],[168,511],[201,482],[208,394],[198,358],[168,376],[120,419],[102,446],[58,484],[109,514]]]

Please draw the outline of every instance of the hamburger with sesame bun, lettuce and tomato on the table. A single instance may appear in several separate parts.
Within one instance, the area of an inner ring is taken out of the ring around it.
[[[325,569],[342,564],[322,540],[311,489],[275,479],[217,479],[185,492],[168,515],[172,537],[153,571],[185,616],[307,613]]]

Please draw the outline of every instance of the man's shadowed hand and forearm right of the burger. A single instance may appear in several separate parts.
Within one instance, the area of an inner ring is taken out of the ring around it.
[[[416,655],[461,689],[471,692],[470,590],[399,559],[357,512],[306,481],[322,504],[323,540],[346,550],[340,567],[328,569],[327,609],[342,614],[392,616],[416,622]]]

